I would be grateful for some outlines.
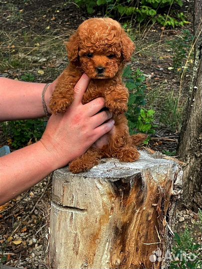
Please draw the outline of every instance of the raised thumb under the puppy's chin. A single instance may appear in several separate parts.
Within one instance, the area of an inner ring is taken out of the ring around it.
[[[90,78],[84,73],[74,87],[74,103],[81,103],[89,82]]]

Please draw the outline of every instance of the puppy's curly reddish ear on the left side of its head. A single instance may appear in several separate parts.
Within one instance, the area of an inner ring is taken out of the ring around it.
[[[79,36],[77,31],[70,37],[69,41],[65,42],[65,45],[70,62],[77,62],[79,49]]]

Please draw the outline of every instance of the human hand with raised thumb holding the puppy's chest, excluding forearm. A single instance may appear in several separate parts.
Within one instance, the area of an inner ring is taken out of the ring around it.
[[[83,74],[74,88],[74,101],[63,114],[52,115],[40,142],[46,152],[54,157],[54,169],[65,166],[82,155],[96,140],[112,130],[114,121],[104,98],[97,98],[85,105],[82,98],[90,79]],[[99,113],[98,113],[99,112]],[[109,120],[108,122],[106,122]]]

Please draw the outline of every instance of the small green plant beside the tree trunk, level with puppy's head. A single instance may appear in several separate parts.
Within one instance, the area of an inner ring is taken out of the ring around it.
[[[176,72],[178,68],[185,66],[189,49],[193,41],[193,35],[190,30],[183,30],[182,35],[175,37],[171,41],[167,41],[168,45],[174,52],[173,67]]]

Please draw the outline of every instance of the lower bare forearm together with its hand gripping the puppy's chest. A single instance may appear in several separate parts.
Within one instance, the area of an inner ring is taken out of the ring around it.
[[[103,98],[82,104],[89,82],[86,75],[81,77],[74,88],[72,105],[65,113],[50,117],[40,141],[0,158],[0,204],[81,156],[112,130],[114,121],[109,120],[112,115],[99,112],[105,107]]]

